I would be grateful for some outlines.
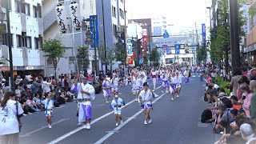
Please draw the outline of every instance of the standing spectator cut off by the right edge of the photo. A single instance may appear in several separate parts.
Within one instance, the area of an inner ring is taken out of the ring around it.
[[[256,81],[250,81],[250,90],[254,91],[250,100],[250,118],[253,122],[256,122]]]

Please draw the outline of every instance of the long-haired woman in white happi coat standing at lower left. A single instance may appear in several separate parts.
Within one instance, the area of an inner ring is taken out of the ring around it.
[[[0,105],[0,143],[18,144],[20,133],[20,120],[23,110],[22,105],[15,100],[16,95],[6,92]]]

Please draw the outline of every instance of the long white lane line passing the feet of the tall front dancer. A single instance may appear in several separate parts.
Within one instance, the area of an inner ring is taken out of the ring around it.
[[[157,87],[155,90],[158,90],[160,87],[161,87],[161,86]],[[154,90],[152,90],[152,91],[154,91]],[[158,98],[160,98],[160,97],[158,97]],[[135,102],[135,99],[134,99],[133,101],[131,101],[131,102],[126,103],[126,106],[129,106],[129,105],[130,105],[131,103],[133,103],[133,102]],[[124,107],[126,107],[126,106],[123,106],[122,108],[124,108]],[[106,118],[107,116],[109,116],[110,114],[113,114],[113,113],[114,113],[114,111],[109,112],[109,113],[107,113],[107,114],[104,114],[104,115],[102,115],[101,117],[99,117],[99,118],[97,118],[97,119],[94,119],[92,122],[90,122],[90,124],[92,125],[92,124],[94,124],[95,122],[98,122],[98,121],[100,121],[101,119]],[[83,126],[78,127],[77,129],[72,130],[72,131],[70,131],[69,133],[62,135],[61,137],[54,139],[53,141],[49,142],[48,144],[54,144],[54,143],[60,142],[60,141],[62,141],[63,139],[65,139],[65,138],[67,138],[67,137],[70,137],[70,135],[75,134],[75,133],[77,133],[78,131],[83,130],[83,129],[84,129]]]

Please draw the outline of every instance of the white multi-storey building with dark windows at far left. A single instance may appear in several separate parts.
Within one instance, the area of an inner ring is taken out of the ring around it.
[[[7,1],[5,1],[7,2]],[[2,10],[5,10],[1,1]],[[6,23],[6,21],[2,22]],[[40,74],[44,69],[42,46],[42,0],[10,0],[10,34],[14,75]],[[6,38],[0,43],[0,57],[9,59]],[[9,62],[0,65],[9,77]]]

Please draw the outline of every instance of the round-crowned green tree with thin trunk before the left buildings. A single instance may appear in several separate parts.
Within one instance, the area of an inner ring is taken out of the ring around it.
[[[42,44],[44,56],[54,63],[54,76],[57,77],[57,66],[60,58],[65,54],[65,47],[61,40],[49,39]]]

